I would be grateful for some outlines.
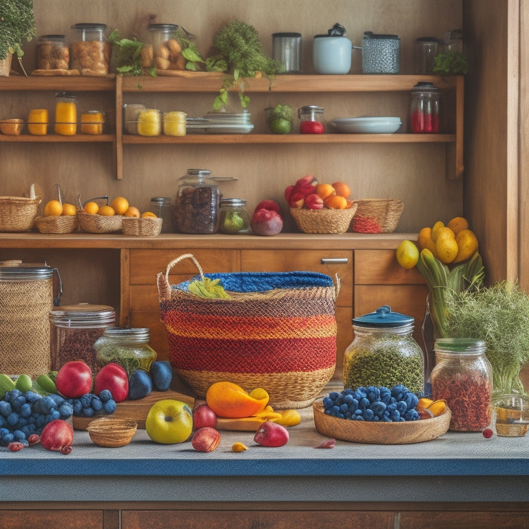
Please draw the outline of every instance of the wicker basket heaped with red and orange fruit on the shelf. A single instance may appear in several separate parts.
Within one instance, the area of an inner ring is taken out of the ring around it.
[[[357,209],[350,195],[346,183],[318,184],[312,175],[285,189],[290,214],[305,234],[344,234]]]

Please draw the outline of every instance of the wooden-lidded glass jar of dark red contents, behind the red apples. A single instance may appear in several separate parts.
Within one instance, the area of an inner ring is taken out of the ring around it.
[[[56,307],[50,312],[52,370],[81,360],[96,372],[94,344],[108,326],[114,325],[114,307],[80,303]]]

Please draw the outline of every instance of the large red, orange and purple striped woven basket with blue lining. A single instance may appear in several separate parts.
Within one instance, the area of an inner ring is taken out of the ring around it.
[[[231,298],[201,298],[188,291],[190,281],[169,284],[169,271],[185,258],[200,272],[191,280],[220,278]],[[214,382],[229,381],[247,391],[264,388],[275,408],[304,408],[331,380],[339,283],[330,276],[203,274],[194,256],[185,254],[169,262],[157,280],[169,360],[198,397]]]

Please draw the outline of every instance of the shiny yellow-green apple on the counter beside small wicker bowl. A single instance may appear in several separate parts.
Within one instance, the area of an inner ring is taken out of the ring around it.
[[[193,412],[185,402],[158,400],[147,413],[145,430],[156,443],[183,443],[193,431]]]

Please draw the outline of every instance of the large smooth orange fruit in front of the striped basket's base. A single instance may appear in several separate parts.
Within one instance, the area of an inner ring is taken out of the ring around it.
[[[267,406],[269,395],[264,389],[257,388],[247,393],[233,382],[215,382],[206,393],[207,405],[219,416],[230,419],[251,417]]]

